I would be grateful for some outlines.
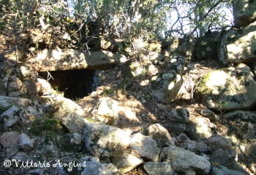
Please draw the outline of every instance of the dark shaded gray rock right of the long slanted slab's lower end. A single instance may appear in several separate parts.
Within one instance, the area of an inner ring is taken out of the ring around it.
[[[235,163],[236,152],[233,149],[217,149],[211,155],[210,161],[218,163],[219,165],[226,166],[227,168],[233,168]]]

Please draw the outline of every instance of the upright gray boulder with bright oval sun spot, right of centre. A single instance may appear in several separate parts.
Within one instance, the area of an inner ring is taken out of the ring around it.
[[[181,74],[159,74],[151,78],[151,89],[158,101],[168,103],[177,98],[182,83]]]

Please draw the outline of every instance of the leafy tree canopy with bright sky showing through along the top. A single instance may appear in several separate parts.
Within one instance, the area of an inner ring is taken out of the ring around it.
[[[233,26],[231,14],[229,0],[0,0],[2,34],[31,28],[69,31],[77,43],[93,37],[131,41],[203,36]]]

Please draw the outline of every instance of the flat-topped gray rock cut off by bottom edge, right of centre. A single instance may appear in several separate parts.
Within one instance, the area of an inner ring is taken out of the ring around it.
[[[166,162],[147,162],[144,169],[149,175],[173,175],[174,171],[169,163]]]

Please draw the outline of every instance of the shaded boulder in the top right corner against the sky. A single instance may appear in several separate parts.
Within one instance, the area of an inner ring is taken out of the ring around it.
[[[233,16],[236,27],[247,26],[256,20],[255,1],[234,1]]]

